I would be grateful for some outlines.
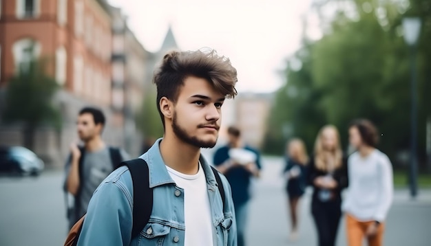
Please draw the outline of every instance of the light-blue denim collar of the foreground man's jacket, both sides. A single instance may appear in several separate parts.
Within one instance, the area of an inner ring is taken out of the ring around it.
[[[174,179],[172,179],[171,175],[169,175],[165,161],[163,161],[162,155],[160,154],[161,141],[162,138],[157,139],[153,146],[149,148],[147,153],[144,153],[139,157],[140,159],[147,161],[148,164],[149,188],[162,186],[167,183],[175,183]],[[200,155],[199,161],[204,170],[205,178],[207,179],[209,188],[215,189],[215,186],[217,186],[217,181],[215,181],[211,166],[209,166],[202,155]]]

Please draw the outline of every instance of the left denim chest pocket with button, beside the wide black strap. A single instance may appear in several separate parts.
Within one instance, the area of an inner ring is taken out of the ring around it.
[[[161,246],[171,227],[159,223],[147,223],[140,232],[138,245]]]

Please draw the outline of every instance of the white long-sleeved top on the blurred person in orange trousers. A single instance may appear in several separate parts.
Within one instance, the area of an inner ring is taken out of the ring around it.
[[[348,192],[344,212],[359,221],[384,221],[393,194],[392,165],[388,156],[374,150],[367,157],[353,153],[348,158]]]

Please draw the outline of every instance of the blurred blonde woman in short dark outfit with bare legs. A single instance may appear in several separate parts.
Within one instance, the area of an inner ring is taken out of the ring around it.
[[[297,207],[299,199],[306,188],[308,155],[304,142],[299,138],[291,139],[288,142],[286,153],[284,176],[287,178],[286,191],[291,215],[291,234],[289,238],[291,238],[291,241],[296,241],[298,236]]]

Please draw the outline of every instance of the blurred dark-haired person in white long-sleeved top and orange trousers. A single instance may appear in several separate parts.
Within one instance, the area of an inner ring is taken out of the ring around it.
[[[386,215],[392,204],[392,164],[377,150],[377,129],[369,120],[350,124],[350,145],[357,151],[348,158],[349,188],[343,203],[349,246],[383,245]]]

